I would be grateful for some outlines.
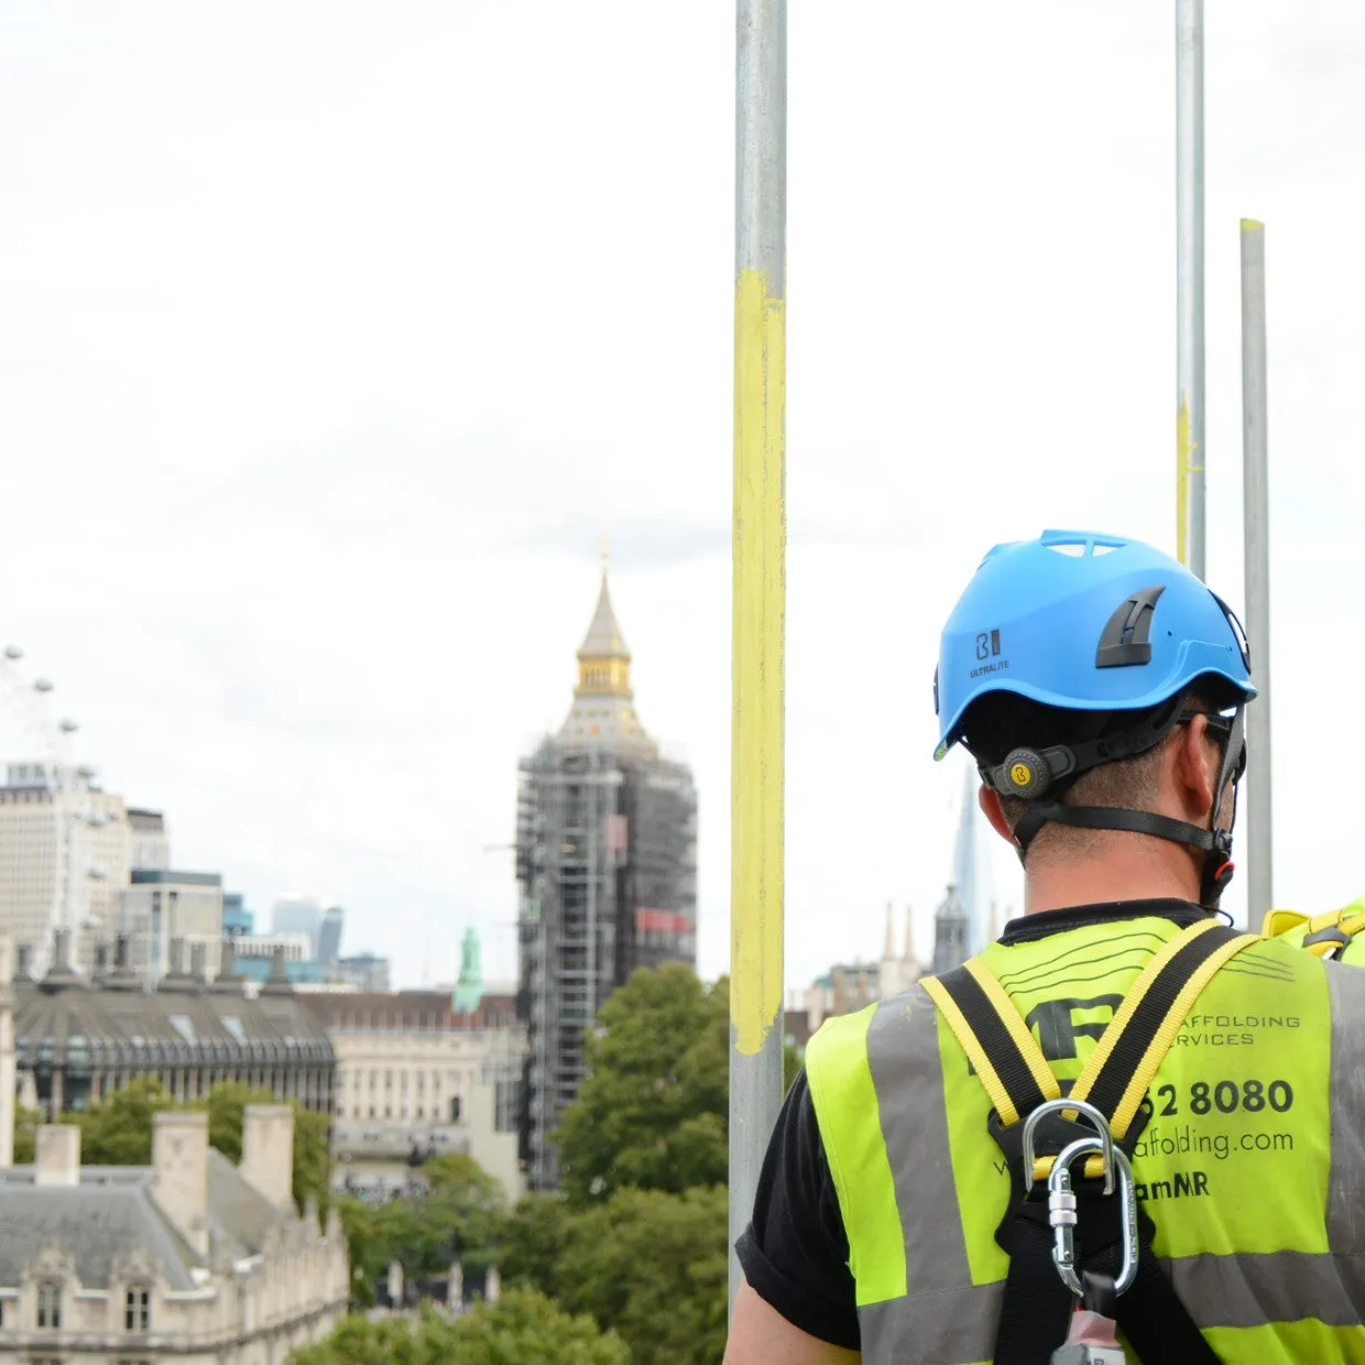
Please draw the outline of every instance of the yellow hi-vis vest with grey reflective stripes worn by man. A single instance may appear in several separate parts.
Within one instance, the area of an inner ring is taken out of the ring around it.
[[[1114,920],[992,943],[981,960],[1065,1087],[1179,932]],[[986,1365],[1013,1192],[951,1029],[915,987],[827,1020],[805,1067],[864,1365]],[[1226,1362],[1365,1362],[1365,972],[1289,943],[1245,949],[1185,1018],[1148,1104],[1137,1197],[1209,1346]]]

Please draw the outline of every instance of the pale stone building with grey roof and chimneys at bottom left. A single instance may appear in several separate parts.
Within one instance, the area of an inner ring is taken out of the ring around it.
[[[293,1111],[248,1106],[242,1163],[203,1112],[157,1114],[152,1166],[82,1167],[38,1130],[0,1170],[0,1362],[283,1365],[347,1310],[347,1242],[293,1204]]]

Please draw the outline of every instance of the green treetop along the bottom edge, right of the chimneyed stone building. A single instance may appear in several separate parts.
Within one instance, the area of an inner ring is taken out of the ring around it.
[[[453,1323],[431,1309],[379,1321],[348,1317],[325,1342],[289,1358],[293,1365],[631,1365],[621,1339],[591,1317],[517,1290]]]

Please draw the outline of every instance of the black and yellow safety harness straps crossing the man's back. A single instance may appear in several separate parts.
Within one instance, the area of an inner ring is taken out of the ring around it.
[[[1126,1156],[1147,1123],[1143,1100],[1182,1021],[1219,968],[1257,942],[1257,934],[1201,920],[1170,939],[1125,995],[1066,1097],[1097,1110]],[[1029,1144],[1039,1156],[1033,1170],[1025,1171],[1024,1121],[1040,1106],[1062,1099],[1047,1058],[1005,987],[980,960],[921,984],[986,1087],[994,1107],[991,1136],[1010,1168],[1011,1201],[995,1233],[1010,1259],[995,1365],[1047,1365],[1067,1334],[1076,1299],[1054,1265],[1054,1227],[1043,1186],[1055,1156],[1078,1137],[1093,1137],[1095,1129],[1081,1123],[1074,1110],[1044,1115]],[[1078,1264],[1097,1283],[1107,1280],[1112,1287],[1125,1230],[1121,1201],[1102,1192],[1104,1177],[1102,1158],[1088,1158],[1076,1189]],[[1218,1355],[1152,1252],[1155,1224],[1141,1208],[1137,1222],[1136,1279],[1117,1299],[1117,1310],[1106,1316],[1117,1317],[1144,1365],[1218,1365]]]

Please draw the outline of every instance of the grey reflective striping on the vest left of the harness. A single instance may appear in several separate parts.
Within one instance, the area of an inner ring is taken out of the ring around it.
[[[1005,1286],[972,1284],[953,1181],[938,1014],[921,987],[878,1007],[867,1031],[867,1061],[895,1181],[908,1297],[859,1309],[864,1365],[990,1360]]]

